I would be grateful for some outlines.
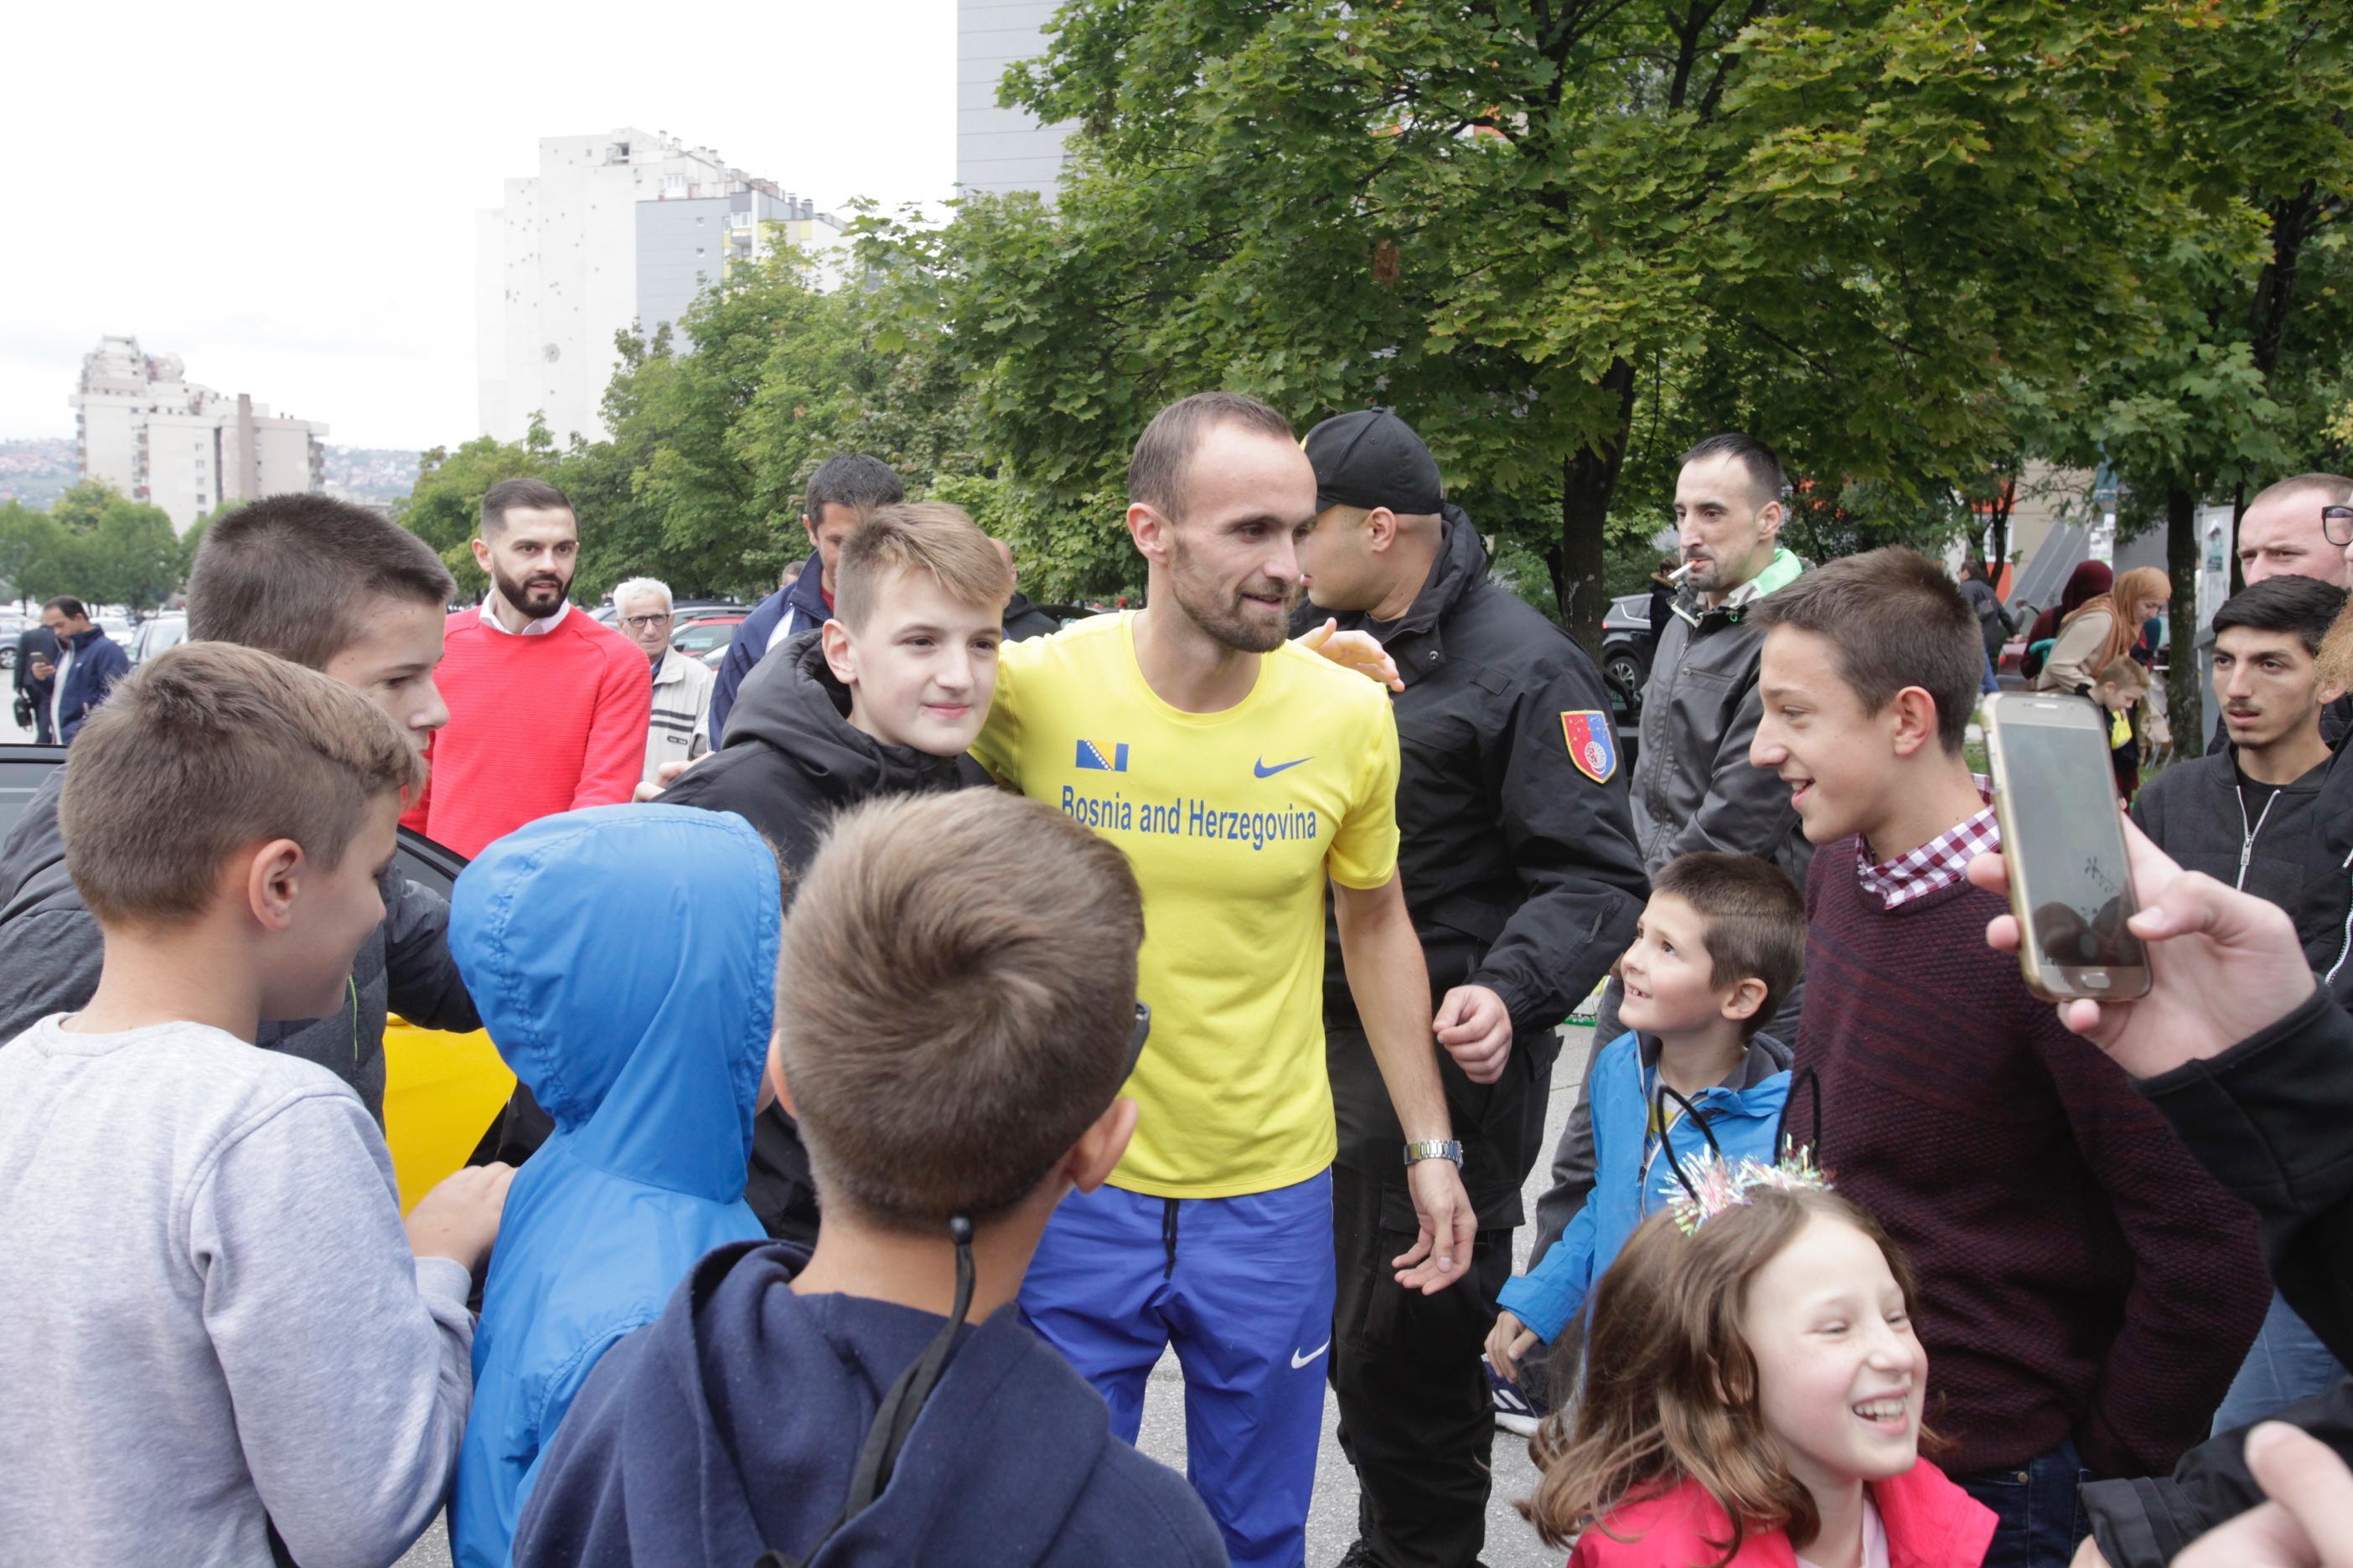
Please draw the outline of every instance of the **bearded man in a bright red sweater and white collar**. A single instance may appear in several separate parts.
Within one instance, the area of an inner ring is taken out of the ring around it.
[[[489,595],[449,616],[449,724],[426,752],[424,797],[400,818],[461,856],[541,816],[626,802],[654,710],[645,654],[572,614],[579,522],[560,489],[492,484],[473,559]]]

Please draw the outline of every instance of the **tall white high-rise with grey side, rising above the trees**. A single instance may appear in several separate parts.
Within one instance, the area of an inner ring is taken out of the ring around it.
[[[541,136],[539,174],[475,223],[480,421],[522,440],[607,435],[614,336],[675,327],[706,287],[779,244],[828,252],[842,221],[668,132]],[[687,343],[678,343],[687,348]]]

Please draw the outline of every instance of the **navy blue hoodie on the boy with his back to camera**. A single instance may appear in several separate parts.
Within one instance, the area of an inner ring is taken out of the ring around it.
[[[892,1380],[941,1319],[795,1295],[784,1244],[704,1258],[581,1392],[515,1535],[532,1563],[805,1556]],[[889,1486],[809,1568],[1224,1563],[1181,1476],[1111,1436],[1101,1396],[1007,1307],[967,1326]]]

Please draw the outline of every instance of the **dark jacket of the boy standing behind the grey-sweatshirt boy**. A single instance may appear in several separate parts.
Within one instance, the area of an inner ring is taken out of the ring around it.
[[[49,1013],[87,1004],[106,959],[99,922],[66,875],[56,820],[64,790],[66,769],[49,769],[0,844],[0,1046]],[[398,867],[384,872],[381,893],[384,924],[351,959],[351,1006],[329,1018],[266,1023],[254,1041],[344,1079],[379,1124],[386,1011],[428,1030],[482,1027],[449,957],[449,903]]]

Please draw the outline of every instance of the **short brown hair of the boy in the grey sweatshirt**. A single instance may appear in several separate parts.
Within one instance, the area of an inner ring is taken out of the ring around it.
[[[238,851],[294,839],[339,865],[367,809],[424,778],[400,726],[351,686],[186,642],[139,665],[73,741],[66,870],[99,924],[193,919]]]

